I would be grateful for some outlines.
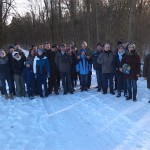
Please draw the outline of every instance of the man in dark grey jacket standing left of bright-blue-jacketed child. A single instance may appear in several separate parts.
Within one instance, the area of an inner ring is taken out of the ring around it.
[[[64,89],[64,95],[68,92],[73,94],[72,84],[71,84],[71,56],[66,53],[66,45],[62,44],[60,46],[61,52],[57,54],[57,66],[59,68],[60,76],[62,79],[62,85]],[[67,88],[68,87],[68,88]]]

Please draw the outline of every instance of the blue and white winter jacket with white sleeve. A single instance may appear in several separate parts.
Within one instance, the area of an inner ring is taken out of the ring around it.
[[[50,64],[44,55],[36,56],[33,62],[33,71],[35,74],[45,74],[50,76]]]

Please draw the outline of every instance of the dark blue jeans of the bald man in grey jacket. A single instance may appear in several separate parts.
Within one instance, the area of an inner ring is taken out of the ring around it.
[[[103,91],[106,92],[108,89],[108,85],[110,88],[110,92],[113,91],[113,78],[114,74],[112,73],[103,73],[102,79],[103,79]]]

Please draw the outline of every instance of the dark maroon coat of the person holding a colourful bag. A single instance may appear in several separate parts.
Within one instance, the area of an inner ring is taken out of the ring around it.
[[[137,74],[140,75],[140,57],[135,50],[128,52],[123,57],[119,67],[122,68],[123,64],[128,64],[131,67],[129,75],[125,74],[125,78],[137,80]]]

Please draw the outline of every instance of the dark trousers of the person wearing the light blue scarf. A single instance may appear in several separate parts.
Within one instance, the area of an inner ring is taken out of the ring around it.
[[[118,93],[121,93],[123,90],[125,94],[127,94],[127,81],[123,78],[123,74],[117,73],[117,89]]]

